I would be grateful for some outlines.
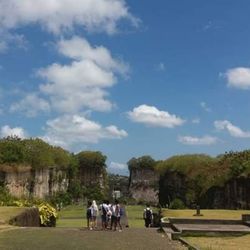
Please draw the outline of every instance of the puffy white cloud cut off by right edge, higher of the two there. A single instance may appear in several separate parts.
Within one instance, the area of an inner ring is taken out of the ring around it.
[[[224,74],[228,86],[239,89],[250,89],[250,68],[238,67],[227,70]]]

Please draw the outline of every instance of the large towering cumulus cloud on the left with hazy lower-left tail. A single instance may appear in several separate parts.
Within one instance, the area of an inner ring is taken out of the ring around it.
[[[54,63],[38,70],[37,75],[44,81],[39,91],[48,101],[40,98],[36,109],[33,107],[27,113],[29,109],[26,107],[38,100],[37,96],[29,94],[13,104],[11,110],[25,111],[29,116],[49,108],[73,114],[86,109],[110,111],[114,104],[108,100],[107,89],[117,82],[118,75],[128,73],[128,65],[113,58],[105,47],[91,46],[86,39],[76,36],[60,40],[57,49],[72,62],[66,65]]]

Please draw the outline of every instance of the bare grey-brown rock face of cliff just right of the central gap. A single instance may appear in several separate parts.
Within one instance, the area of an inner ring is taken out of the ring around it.
[[[158,204],[159,175],[153,169],[130,170],[129,193],[137,202]]]

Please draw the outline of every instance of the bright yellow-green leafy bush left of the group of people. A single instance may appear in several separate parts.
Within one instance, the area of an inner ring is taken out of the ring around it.
[[[42,203],[38,206],[40,223],[45,227],[53,227],[56,225],[57,212],[49,203]]]

